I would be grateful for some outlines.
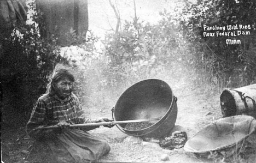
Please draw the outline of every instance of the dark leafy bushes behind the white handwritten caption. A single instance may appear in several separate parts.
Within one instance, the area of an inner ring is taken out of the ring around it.
[[[192,52],[190,65],[195,69],[196,82],[212,83],[219,89],[255,83],[255,1],[187,1],[179,15],[183,36]],[[226,45],[225,37],[203,38],[202,26],[251,25],[251,35],[237,37],[241,45]],[[199,80],[198,80],[199,79]],[[229,86],[230,87],[230,86]]]

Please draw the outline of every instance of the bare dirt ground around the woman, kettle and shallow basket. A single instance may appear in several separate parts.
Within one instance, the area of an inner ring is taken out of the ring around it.
[[[188,138],[191,138],[213,120],[222,118],[218,93],[203,93],[200,89],[182,89],[179,91],[173,89],[173,92],[178,98],[178,116],[176,126],[172,131],[185,131]],[[112,116],[110,108],[93,108],[90,111],[90,117],[93,119],[98,117],[111,118]],[[251,153],[243,155],[245,159],[218,160],[186,153],[183,148],[163,149],[158,143],[126,142],[124,139],[129,135],[121,132],[117,126],[110,129],[101,126],[90,133],[107,141],[111,147],[110,153],[99,159],[98,162],[256,162],[256,143],[252,147]],[[253,141],[255,142],[255,139]],[[32,143],[33,140],[26,135],[25,128],[13,130],[1,127],[3,162],[25,162]],[[164,155],[166,161],[161,160]]]

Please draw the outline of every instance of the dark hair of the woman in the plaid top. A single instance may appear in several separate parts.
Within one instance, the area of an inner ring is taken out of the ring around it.
[[[74,76],[68,70],[66,69],[57,70],[53,78],[51,79],[51,82],[48,84],[46,93],[50,93],[51,95],[56,94],[57,82],[61,81],[65,77],[67,77],[67,79],[70,80],[71,82],[74,82]]]

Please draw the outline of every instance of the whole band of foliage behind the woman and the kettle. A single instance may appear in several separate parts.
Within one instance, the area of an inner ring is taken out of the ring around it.
[[[31,19],[42,23],[33,12],[34,3],[28,5]],[[37,23],[16,27],[4,41],[0,58],[1,125],[26,125],[56,67],[75,75],[74,93],[85,108],[109,110],[125,89],[144,79],[184,83],[183,87],[208,94],[256,83],[255,1],[176,1],[159,13],[161,19],[154,24],[133,11],[132,21],[120,21],[104,39],[90,31],[86,37],[77,37],[73,30],[66,33],[69,50],[57,45],[57,35],[40,37]],[[203,25],[236,24],[252,27],[249,35],[236,38],[240,45],[226,45],[226,37],[202,37]]]

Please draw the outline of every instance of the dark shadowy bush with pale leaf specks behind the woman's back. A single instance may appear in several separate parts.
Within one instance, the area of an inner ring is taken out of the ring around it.
[[[34,8],[33,3],[30,6]],[[3,119],[14,125],[27,122],[34,102],[45,92],[49,73],[61,61],[56,38],[40,37],[36,23],[40,17],[34,13],[31,18],[33,23],[16,27],[2,46]]]

